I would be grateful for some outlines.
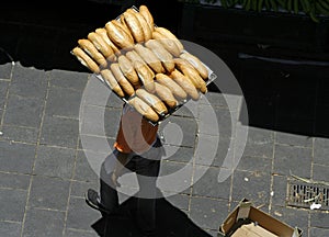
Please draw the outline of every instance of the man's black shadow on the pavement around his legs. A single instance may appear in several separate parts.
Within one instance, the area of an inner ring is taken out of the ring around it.
[[[143,237],[134,221],[137,198],[132,196],[121,204],[117,214],[101,217],[92,228],[101,237]],[[157,199],[157,237],[209,237],[188,215],[164,198]]]

